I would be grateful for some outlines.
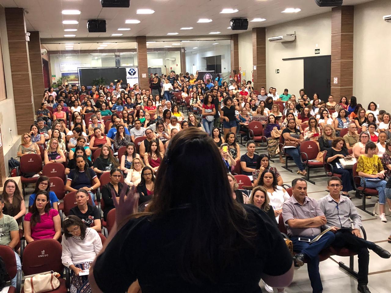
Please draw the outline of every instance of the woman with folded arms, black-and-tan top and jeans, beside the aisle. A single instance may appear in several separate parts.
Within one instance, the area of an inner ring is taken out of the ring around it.
[[[294,163],[298,166],[299,170],[297,173],[303,176],[307,175],[307,171],[305,170],[300,157],[300,143],[303,142],[304,139],[300,130],[296,127],[296,120],[288,120],[288,127],[282,130],[282,136],[285,141],[289,141],[291,144],[297,144],[297,147],[285,146],[283,149],[285,153],[293,158]]]

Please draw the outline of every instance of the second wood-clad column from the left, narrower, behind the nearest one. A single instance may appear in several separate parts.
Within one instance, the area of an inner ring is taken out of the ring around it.
[[[45,90],[45,84],[43,82],[41,41],[39,39],[39,32],[30,32],[30,41],[28,43],[32,95],[34,99],[34,107],[35,109],[39,109],[41,107],[43,91]]]

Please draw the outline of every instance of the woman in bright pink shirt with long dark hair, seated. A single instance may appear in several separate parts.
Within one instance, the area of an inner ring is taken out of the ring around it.
[[[23,226],[27,243],[39,239],[60,238],[60,215],[57,210],[50,207],[49,194],[46,190],[38,191],[30,213],[25,216]]]

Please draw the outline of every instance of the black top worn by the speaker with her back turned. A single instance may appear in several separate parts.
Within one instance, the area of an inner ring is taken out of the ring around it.
[[[151,216],[129,220],[97,257],[93,271],[97,285],[105,293],[125,292],[138,279],[147,293],[261,293],[262,273],[278,276],[288,272],[292,256],[275,223],[255,206],[242,206],[248,213],[249,225],[256,225],[259,231],[255,249],[243,243],[230,252],[227,257],[232,260],[218,272],[221,277],[217,284],[205,280],[196,286],[179,275],[176,255],[183,248],[184,234],[191,229],[193,220],[188,206],[171,209],[156,220]],[[116,282],[107,281],[113,279]]]

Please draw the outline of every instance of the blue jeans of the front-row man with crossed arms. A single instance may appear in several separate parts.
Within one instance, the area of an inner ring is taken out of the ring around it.
[[[316,236],[303,236],[305,238],[314,239]],[[308,277],[311,281],[313,293],[320,293],[323,291],[322,280],[319,274],[319,252],[322,249],[330,246],[335,240],[333,232],[325,233],[318,241],[310,244],[308,242],[299,241],[299,236],[292,236],[294,252],[303,253],[307,261]]]

